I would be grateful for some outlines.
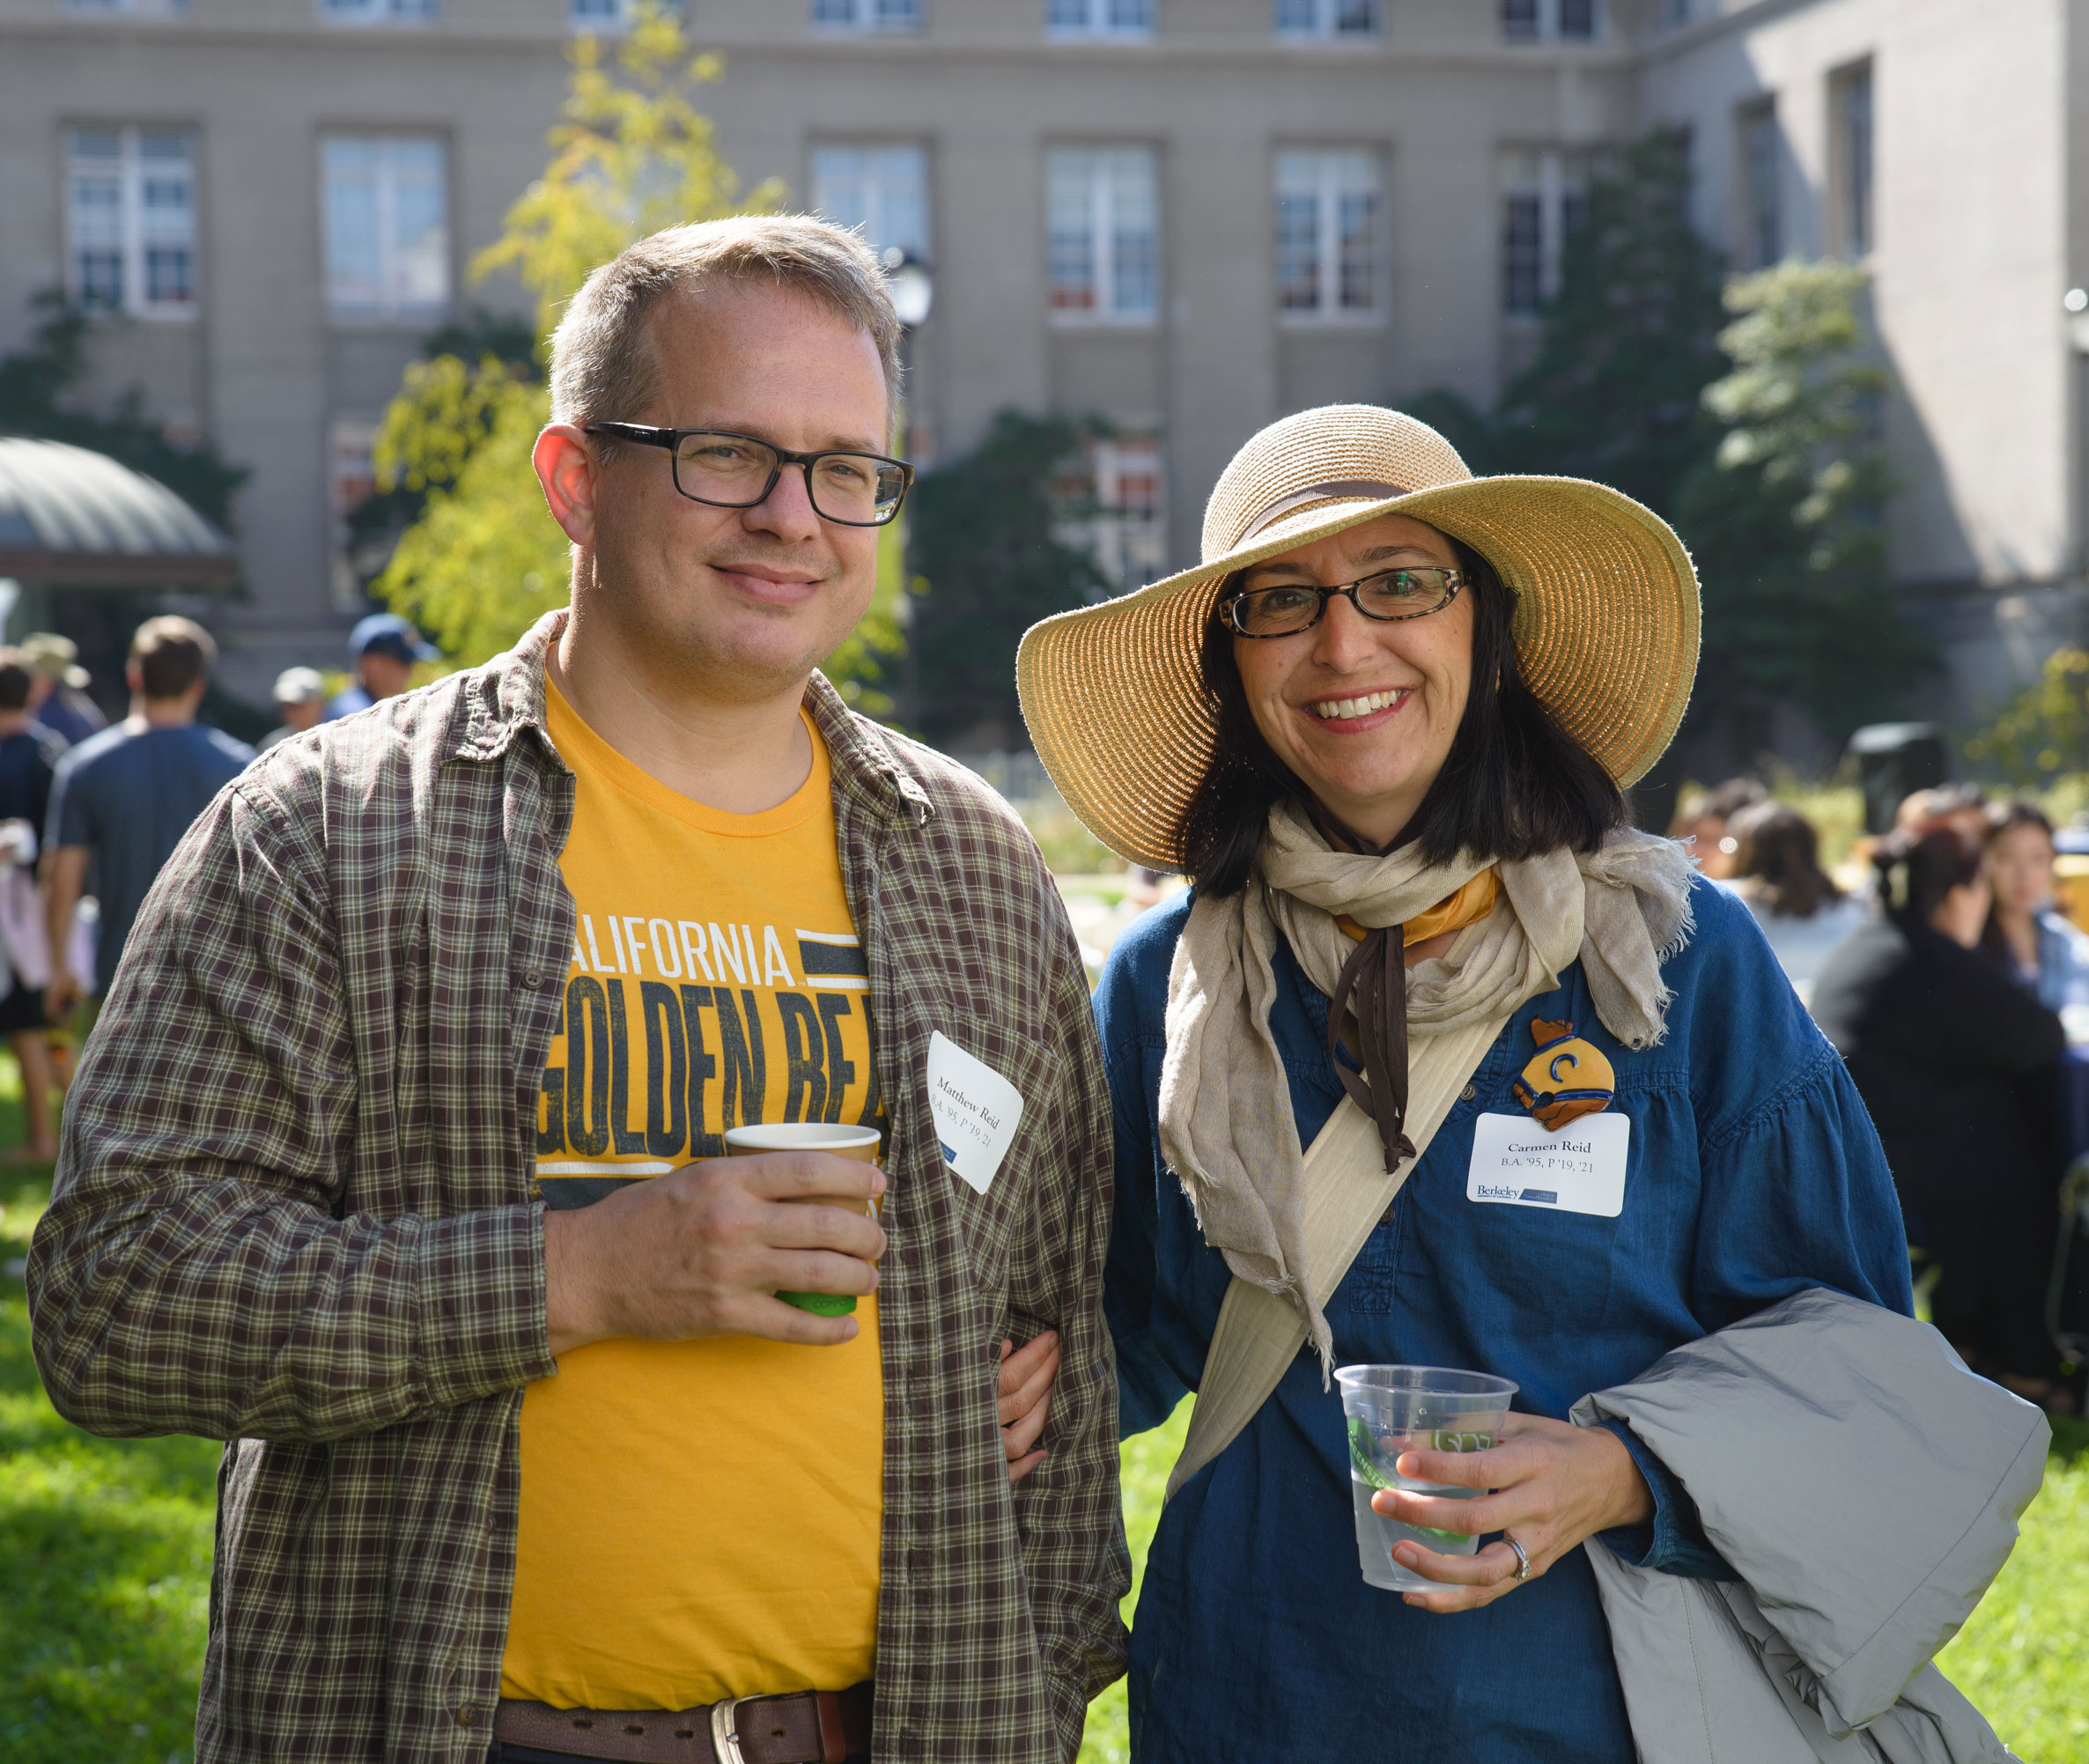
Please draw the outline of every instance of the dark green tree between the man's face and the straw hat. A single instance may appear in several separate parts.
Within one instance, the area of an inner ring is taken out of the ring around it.
[[[1053,487],[1095,420],[1003,410],[986,439],[915,485],[915,715],[932,738],[992,725],[1019,740],[1015,646],[1038,619],[1099,600],[1109,581],[1055,527],[1074,510]]]

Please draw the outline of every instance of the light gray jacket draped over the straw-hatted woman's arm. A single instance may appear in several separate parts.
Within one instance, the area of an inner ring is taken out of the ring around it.
[[[2014,1754],[1930,1666],[2045,1478],[2037,1405],[1926,1323],[1811,1287],[1598,1390],[1738,1582],[1588,1555],[1640,1764],[1972,1764]]]

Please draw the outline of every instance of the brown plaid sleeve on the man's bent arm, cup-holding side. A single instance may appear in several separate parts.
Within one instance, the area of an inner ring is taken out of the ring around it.
[[[251,790],[198,817],[67,1097],[29,1304],[92,1432],[326,1440],[556,1369],[541,1208],[341,1216],[357,1070],[315,823]]]

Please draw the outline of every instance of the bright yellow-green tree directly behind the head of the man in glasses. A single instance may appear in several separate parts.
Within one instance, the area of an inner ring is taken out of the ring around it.
[[[516,274],[535,305],[535,339],[549,334],[587,274],[633,240],[781,196],[765,184],[737,201],[710,119],[696,109],[696,88],[719,79],[723,63],[691,52],[679,15],[643,6],[614,56],[583,36],[570,59],[566,102],[545,136],[549,163],[472,259],[474,278]],[[514,359],[512,328],[474,332],[455,339],[472,353],[407,370],[376,443],[382,491],[422,502],[372,591],[464,665],[508,648],[570,594],[566,535],[531,470],[549,418],[541,362]],[[877,654],[873,623],[852,652],[865,677],[875,677]]]

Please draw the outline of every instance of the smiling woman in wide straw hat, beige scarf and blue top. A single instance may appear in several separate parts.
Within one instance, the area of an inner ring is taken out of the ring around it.
[[[1569,1409],[1805,1287],[1911,1310],[1840,1058],[1746,907],[1627,823],[1696,667],[1690,562],[1615,491],[1473,479],[1368,405],[1253,437],[1203,556],[1017,663],[1076,813],[1193,878],[1095,999],[1122,1432],[1199,1394],[1132,1756],[1629,1760],[1588,1551],[1734,1572],[1629,1428]],[[1515,1379],[1487,1448],[1398,1457],[1492,1492],[1368,1494],[1477,1549],[1356,1513],[1339,1365]]]

